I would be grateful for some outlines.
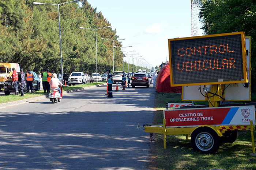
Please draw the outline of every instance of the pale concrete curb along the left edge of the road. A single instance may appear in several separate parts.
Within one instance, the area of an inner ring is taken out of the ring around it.
[[[101,87],[101,86],[104,86],[104,85],[107,85],[107,83],[97,84],[95,86],[77,88],[77,89],[69,90],[69,91],[64,91],[63,95],[67,94],[67,93],[72,93],[72,92],[80,91],[80,90],[86,90],[86,89],[90,89],[90,88]],[[47,98],[48,98],[48,95],[43,95],[43,96],[38,96],[38,97],[34,97],[34,98],[29,98],[29,99],[17,100],[17,101],[14,101],[14,102],[1,103],[0,104],[0,109],[16,106],[18,104],[23,104],[23,103],[27,103],[27,102],[34,102],[34,101],[37,101],[37,100],[47,99]]]

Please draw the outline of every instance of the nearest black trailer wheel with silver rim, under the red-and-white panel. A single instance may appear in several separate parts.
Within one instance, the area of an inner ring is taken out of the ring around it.
[[[195,151],[203,154],[212,154],[219,149],[219,136],[213,129],[201,127],[193,131],[191,144]]]

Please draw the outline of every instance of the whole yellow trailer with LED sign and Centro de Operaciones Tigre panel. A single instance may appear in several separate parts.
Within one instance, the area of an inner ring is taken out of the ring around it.
[[[209,105],[167,103],[167,108],[181,109],[164,110],[162,125],[140,126],[138,122],[137,128],[151,133],[151,137],[152,133],[163,134],[165,149],[166,135],[186,135],[187,140],[191,137],[194,150],[206,154],[215,153],[220,141],[229,143],[236,141],[238,131],[250,130],[252,152],[255,153],[253,131],[256,125],[256,103],[225,104],[226,88],[230,85],[236,87],[238,83],[244,86],[248,83],[248,76],[251,74],[247,70],[247,67],[251,66],[251,59],[249,58],[248,65],[245,33],[175,38],[169,39],[168,44],[170,86],[199,86],[199,94],[209,102]],[[248,56],[250,55],[247,54]],[[248,88],[248,86],[244,87]],[[232,92],[241,88],[230,89]],[[251,88],[249,91],[251,92]],[[189,94],[193,91],[185,92]]]

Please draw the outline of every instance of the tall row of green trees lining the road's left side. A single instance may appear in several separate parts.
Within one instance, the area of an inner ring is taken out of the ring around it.
[[[60,39],[58,9],[51,5],[33,5],[34,0],[0,1],[0,62],[19,63],[35,72],[49,68],[60,72]],[[60,4],[66,0],[40,0]],[[65,72],[96,72],[95,31],[79,29],[102,28],[109,21],[85,1],[60,6],[63,70]],[[113,68],[113,44],[101,38],[118,39],[116,30],[97,31],[98,72]],[[114,46],[122,46],[115,41]],[[122,52],[114,49],[114,64],[123,67]],[[123,68],[122,68],[123,69]]]

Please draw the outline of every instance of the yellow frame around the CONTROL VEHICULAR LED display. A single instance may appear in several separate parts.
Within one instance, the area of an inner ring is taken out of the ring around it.
[[[227,35],[241,35],[242,42],[242,56],[243,57],[243,70],[244,70],[244,80],[237,81],[226,81],[226,82],[209,82],[209,83],[186,83],[186,84],[173,84],[173,70],[172,70],[172,45],[171,41],[177,40],[188,40],[188,39],[198,39],[198,38],[206,38],[206,37],[217,37],[217,36],[227,36]],[[247,64],[246,64],[246,48],[245,48],[245,32],[232,32],[232,33],[221,33],[221,34],[213,34],[213,35],[204,35],[204,36],[195,36],[195,37],[184,37],[184,38],[174,38],[168,39],[168,47],[169,47],[169,62],[170,62],[170,83],[171,87],[175,86],[196,86],[196,85],[209,85],[209,84],[230,84],[230,83],[248,83],[247,76]]]

